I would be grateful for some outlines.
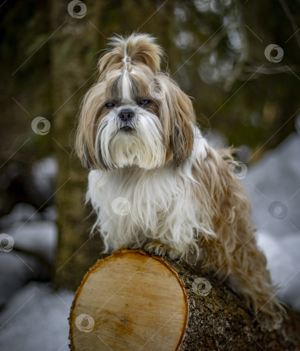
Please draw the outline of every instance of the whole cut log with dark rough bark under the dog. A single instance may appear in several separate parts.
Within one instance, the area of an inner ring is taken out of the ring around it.
[[[98,260],[76,292],[69,322],[74,351],[300,349],[299,313],[258,323],[225,285],[141,250]]]

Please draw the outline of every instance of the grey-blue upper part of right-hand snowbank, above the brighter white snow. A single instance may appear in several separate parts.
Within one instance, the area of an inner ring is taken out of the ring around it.
[[[300,230],[300,136],[290,134],[265,152],[243,179],[257,230],[280,238]],[[275,202],[277,202],[275,204]],[[280,203],[280,204],[279,204]],[[271,206],[273,204],[273,206]]]

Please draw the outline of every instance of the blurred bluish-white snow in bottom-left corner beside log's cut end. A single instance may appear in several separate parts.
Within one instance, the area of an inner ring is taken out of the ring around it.
[[[68,351],[73,298],[73,292],[52,292],[45,283],[28,283],[0,314],[0,349]]]

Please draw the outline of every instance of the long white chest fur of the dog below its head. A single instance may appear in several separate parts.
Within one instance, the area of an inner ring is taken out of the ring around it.
[[[211,234],[192,175],[195,160],[205,157],[206,145],[204,139],[197,140],[180,166],[90,171],[87,200],[97,213],[94,228],[100,228],[106,251],[158,240],[186,256],[198,247],[199,233]]]

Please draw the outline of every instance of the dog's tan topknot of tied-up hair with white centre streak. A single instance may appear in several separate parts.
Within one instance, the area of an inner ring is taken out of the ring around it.
[[[109,50],[99,60],[100,76],[104,71],[128,70],[131,65],[145,64],[154,73],[160,71],[164,52],[149,34],[132,33],[129,36],[116,35],[110,38]]]

